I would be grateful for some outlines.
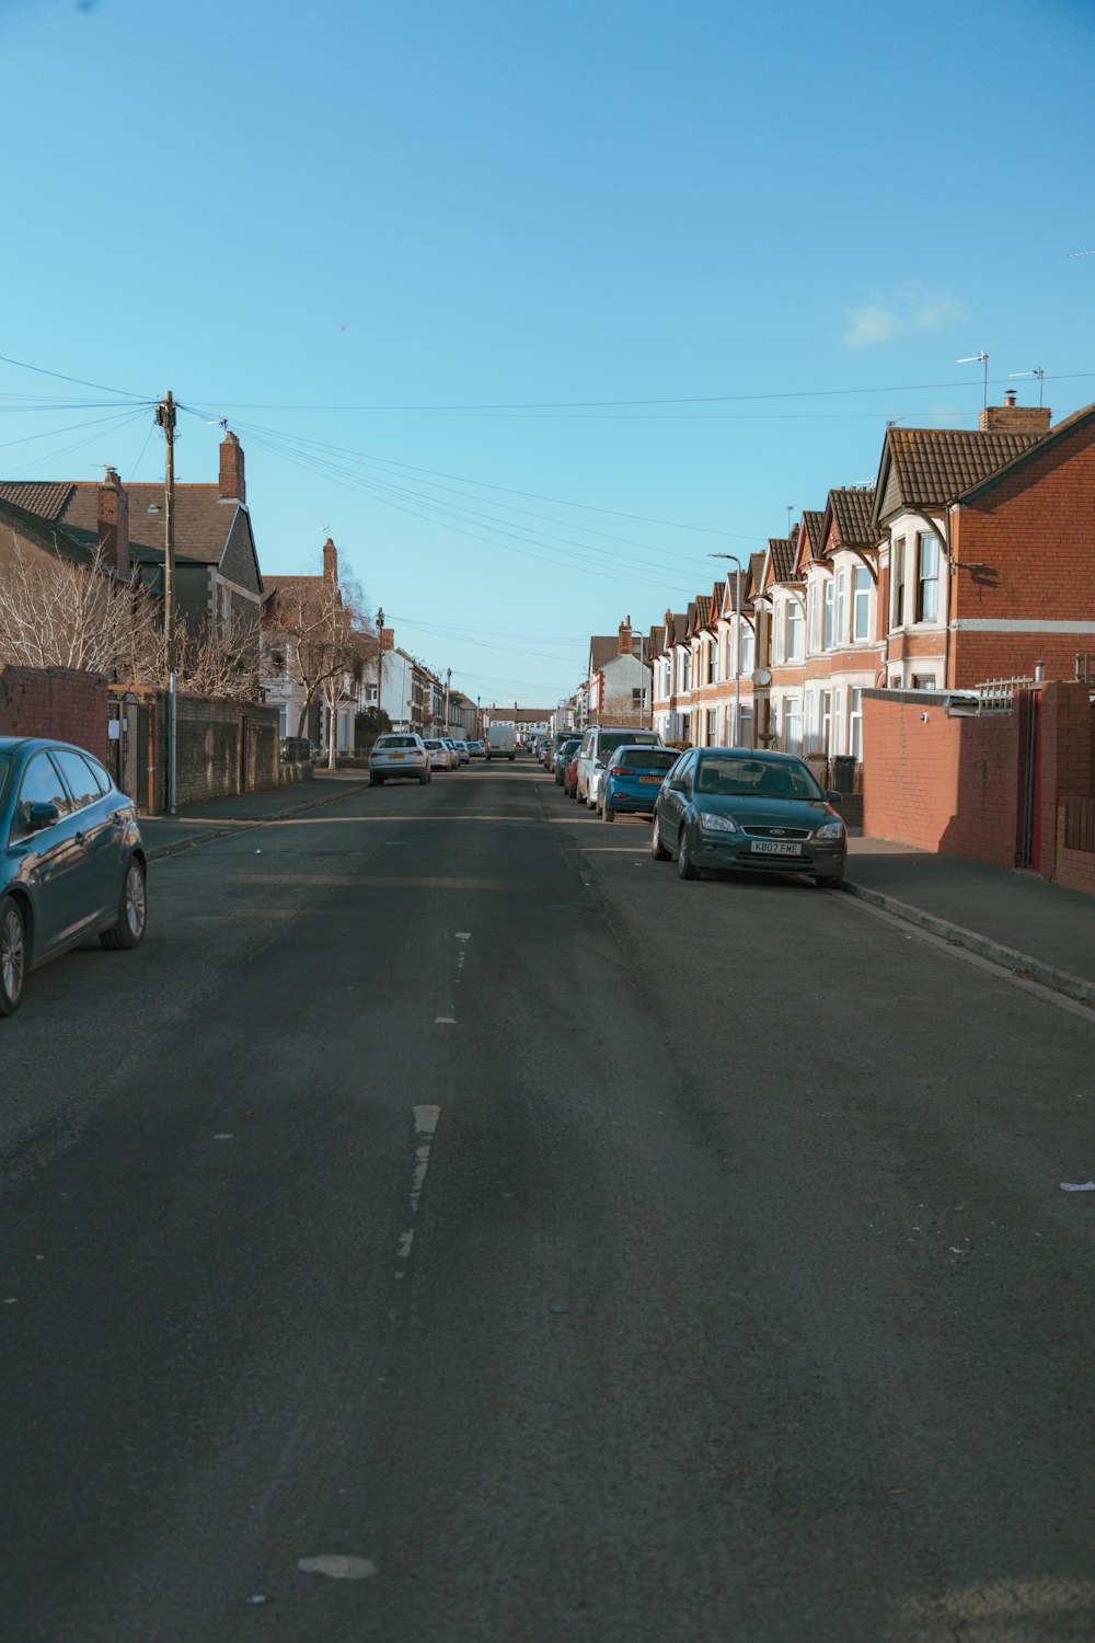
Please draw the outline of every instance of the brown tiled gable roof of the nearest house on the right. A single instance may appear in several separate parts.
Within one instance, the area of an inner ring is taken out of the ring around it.
[[[888,427],[878,463],[872,529],[901,508],[946,508],[1051,435],[964,427]]]

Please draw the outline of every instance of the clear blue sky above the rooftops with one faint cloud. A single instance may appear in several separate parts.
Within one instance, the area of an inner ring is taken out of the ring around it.
[[[182,480],[228,417],[264,572],[330,531],[550,705],[887,419],[972,426],[960,357],[1095,401],[1093,48],[1090,0],[0,0],[0,355],[172,388]],[[149,427],[0,363],[0,476],[153,480]]]

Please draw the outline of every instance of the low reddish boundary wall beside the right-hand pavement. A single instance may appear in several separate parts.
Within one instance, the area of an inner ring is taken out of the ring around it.
[[[864,695],[864,831],[947,856],[1015,868],[1026,749],[1036,748],[1034,859],[1042,877],[1079,882],[1085,851],[1061,858],[1067,800],[1095,798],[1095,708],[1084,683],[1047,683],[1011,713],[951,716],[928,690]],[[1031,726],[1031,716],[1036,725]],[[1028,741],[1029,738],[1029,741]],[[1095,866],[1095,858],[1092,858]],[[1095,881],[1095,874],[1093,874]]]

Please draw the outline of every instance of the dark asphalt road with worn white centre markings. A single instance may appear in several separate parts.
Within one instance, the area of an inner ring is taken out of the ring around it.
[[[5,1643],[1095,1636],[1095,1020],[529,762],[0,1024]]]

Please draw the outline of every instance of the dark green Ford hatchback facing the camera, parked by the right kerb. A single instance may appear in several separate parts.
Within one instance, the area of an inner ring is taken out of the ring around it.
[[[653,812],[650,853],[676,856],[681,879],[704,868],[806,872],[844,882],[847,828],[813,771],[790,752],[693,748],[667,775]]]

